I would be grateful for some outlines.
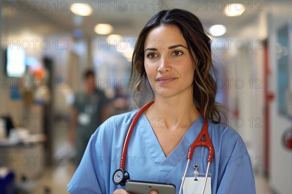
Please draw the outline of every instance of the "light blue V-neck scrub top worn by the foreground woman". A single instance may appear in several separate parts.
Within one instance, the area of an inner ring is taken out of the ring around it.
[[[119,169],[124,139],[138,110],[110,117],[91,136],[83,159],[67,185],[72,194],[112,194],[125,186],[115,185],[112,175]],[[150,121],[151,122],[151,121]],[[146,115],[143,113],[133,129],[125,170],[130,179],[172,183],[179,193],[189,146],[203,126],[199,117],[186,131],[180,144],[166,158]],[[163,125],[163,123],[156,123]],[[208,122],[208,132],[215,155],[210,166],[212,194],[255,194],[255,178],[250,156],[243,140],[224,124]],[[209,150],[195,148],[187,173],[199,164],[205,173]]]

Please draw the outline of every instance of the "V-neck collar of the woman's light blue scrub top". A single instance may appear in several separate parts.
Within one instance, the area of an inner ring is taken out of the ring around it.
[[[180,144],[167,156],[165,157],[164,152],[158,142],[158,139],[146,118],[146,115],[142,113],[139,119],[146,120],[146,126],[138,128],[139,132],[145,141],[146,146],[153,158],[155,158],[155,166],[157,166],[165,178],[168,173],[181,161],[187,160],[183,157],[188,152],[189,147],[195,141],[199,133],[201,132],[204,120],[202,116],[197,118],[194,123],[185,132]]]

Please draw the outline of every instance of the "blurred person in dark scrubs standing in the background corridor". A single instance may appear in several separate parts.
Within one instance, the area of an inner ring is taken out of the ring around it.
[[[76,166],[79,165],[91,134],[109,117],[109,99],[95,85],[92,70],[84,73],[85,88],[75,94],[69,131],[70,141],[76,147]]]

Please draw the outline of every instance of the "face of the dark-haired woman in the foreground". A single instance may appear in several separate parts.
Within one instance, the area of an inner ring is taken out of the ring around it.
[[[144,51],[146,74],[156,97],[193,97],[195,64],[177,26],[152,29],[146,36]]]

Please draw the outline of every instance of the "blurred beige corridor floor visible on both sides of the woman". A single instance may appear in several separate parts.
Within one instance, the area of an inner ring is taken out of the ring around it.
[[[73,176],[74,169],[71,162],[65,166],[46,167],[38,180],[30,181],[30,184],[23,186],[32,194],[68,194],[66,185]],[[273,194],[266,178],[262,176],[255,178],[257,194]]]

